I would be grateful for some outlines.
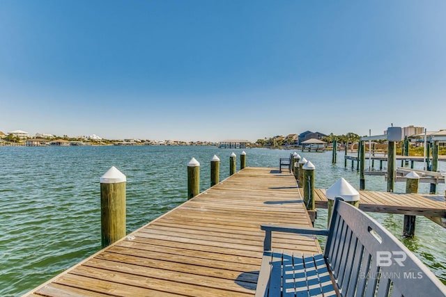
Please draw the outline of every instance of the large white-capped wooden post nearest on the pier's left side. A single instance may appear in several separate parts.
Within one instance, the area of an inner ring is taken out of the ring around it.
[[[125,236],[125,184],[116,167],[100,177],[100,225],[102,248]]]

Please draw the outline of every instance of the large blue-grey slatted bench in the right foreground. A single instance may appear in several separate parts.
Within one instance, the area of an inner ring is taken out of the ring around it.
[[[330,230],[262,225],[266,231],[256,297],[446,296],[446,287],[390,232],[338,199]],[[272,250],[272,232],[325,235],[323,254]]]

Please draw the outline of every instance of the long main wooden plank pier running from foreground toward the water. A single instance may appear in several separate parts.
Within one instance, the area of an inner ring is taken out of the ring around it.
[[[25,296],[254,296],[260,224],[312,225],[296,186],[288,172],[240,170]],[[273,248],[321,250],[293,234]]]

